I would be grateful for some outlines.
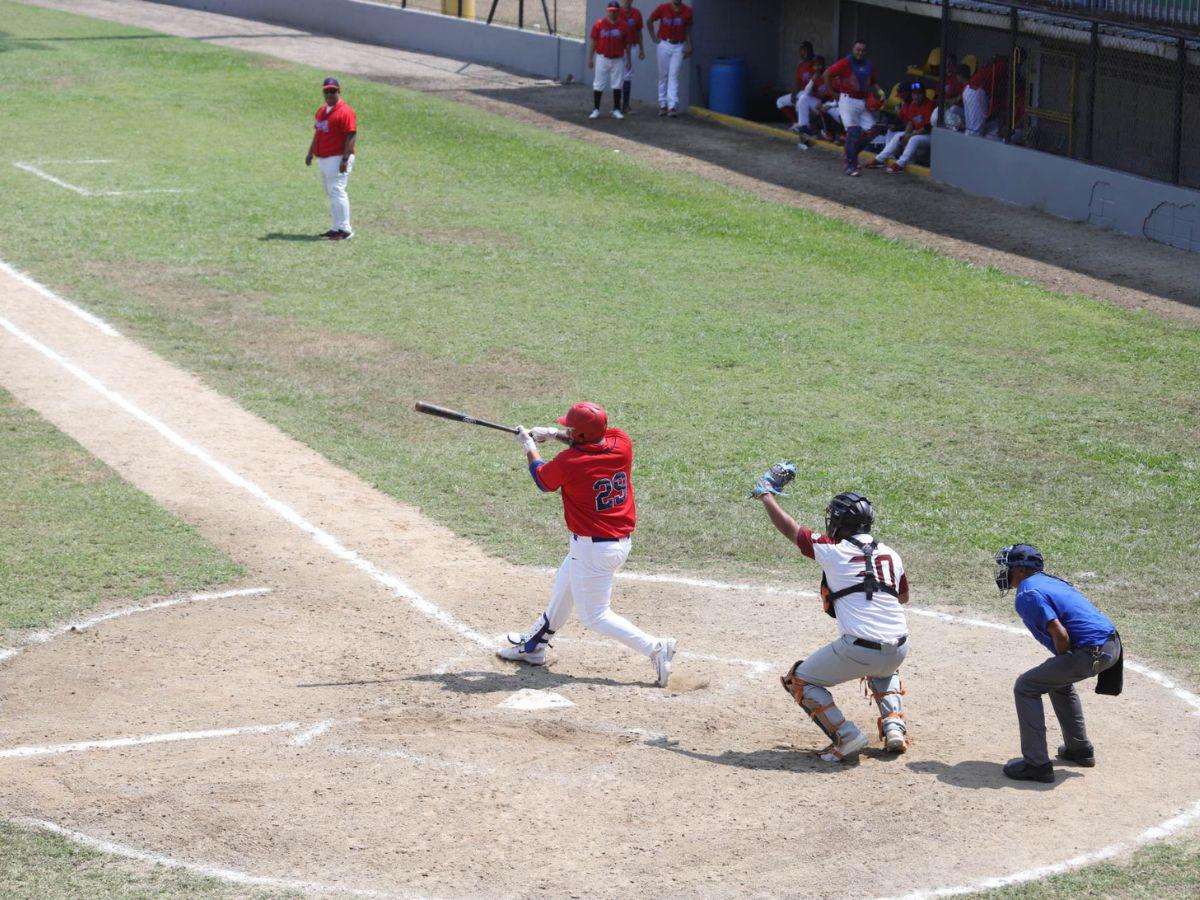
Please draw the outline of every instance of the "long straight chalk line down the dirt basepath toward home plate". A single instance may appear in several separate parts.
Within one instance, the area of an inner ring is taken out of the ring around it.
[[[292,509],[292,506],[288,506],[286,503],[282,503],[281,500],[276,500],[257,484],[254,484],[247,478],[244,478],[242,475],[238,474],[224,463],[214,458],[208,450],[188,440],[187,438],[181,436],[178,431],[175,431],[169,425],[163,422],[161,419],[155,418],[150,413],[142,409],[142,407],[127,400],[124,395],[118,394],[116,391],[109,389],[98,378],[84,371],[74,362],[71,362],[68,359],[66,359],[58,352],[50,349],[32,335],[29,335],[22,329],[17,328],[17,325],[11,323],[8,319],[0,317],[0,328],[11,334],[22,343],[31,347],[32,349],[37,350],[50,361],[65,368],[74,378],[83,382],[85,385],[91,388],[94,391],[100,394],[102,397],[108,400],[114,406],[125,410],[126,413],[128,413],[131,416],[143,422],[144,425],[148,425],[151,428],[154,428],[156,432],[158,432],[158,434],[166,438],[168,443],[179,448],[185,454],[194,457],[196,460],[199,460],[202,463],[204,463],[204,466],[212,469],[212,472],[220,475],[224,481],[248,493],[251,497],[253,497],[263,506],[269,509],[280,518],[295,526],[301,532],[307,534],[313,540],[313,542],[316,542],[319,547],[324,548],[334,557],[346,563],[349,563],[352,566],[354,566],[355,569],[365,574],[367,577],[370,577],[372,581],[389,588],[396,596],[407,600],[409,605],[412,605],[413,608],[415,608],[418,612],[433,619],[434,622],[440,623],[442,625],[461,635],[462,637],[466,637],[469,641],[474,641],[480,647],[491,650],[498,648],[498,644],[492,638],[479,634],[478,631],[463,624],[452,614],[443,610],[440,606],[437,606],[436,604],[425,599],[421,594],[410,588],[398,576],[379,569],[374,563],[370,562],[368,559],[364,559],[361,556],[359,556],[358,552],[346,547],[340,540],[337,540],[337,538],[335,538],[329,532],[325,532],[322,528],[314,526],[307,518],[301,516],[296,510]]]

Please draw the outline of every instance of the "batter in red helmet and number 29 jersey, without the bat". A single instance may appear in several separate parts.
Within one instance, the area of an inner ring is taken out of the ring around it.
[[[566,558],[554,576],[550,605],[523,634],[508,636],[511,647],[500,659],[546,665],[546,648],[566,624],[571,611],[584,628],[616,638],[648,656],[661,686],[671,678],[676,653],[673,637],[652,637],[610,607],[612,578],[629,558],[630,535],[636,524],[634,444],[629,434],[608,427],[608,414],[595,403],[576,403],[559,418],[559,428],[517,431],[517,440],[529,461],[529,474],[544,492],[560,491],[563,515],[570,538]],[[538,443],[568,444],[550,462],[542,462]]]

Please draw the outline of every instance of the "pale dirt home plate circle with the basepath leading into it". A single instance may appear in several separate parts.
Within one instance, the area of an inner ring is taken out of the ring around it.
[[[1007,782],[1009,684],[1040,653],[995,630],[914,616],[914,745],[853,767],[814,758],[820,734],[776,680],[830,637],[811,599],[622,582],[623,612],[680,640],[666,691],[578,630],[548,670],[502,664],[490,636],[532,619],[548,575],[484,556],[7,276],[0,385],[272,588],[5,662],[0,816],[388,894],[862,896],[1055,863],[1194,802],[1200,720],[1134,677],[1121,701],[1086,701],[1100,768]],[[571,706],[500,706],[520,689]],[[838,696],[870,730],[856,692]],[[281,722],[295,725],[13,750]]]

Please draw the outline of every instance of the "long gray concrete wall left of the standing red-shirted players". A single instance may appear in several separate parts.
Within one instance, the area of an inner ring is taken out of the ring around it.
[[[541,78],[584,77],[583,42],[367,0],[157,0]]]

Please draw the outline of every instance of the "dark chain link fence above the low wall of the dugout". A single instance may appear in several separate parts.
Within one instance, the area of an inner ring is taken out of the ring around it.
[[[942,12],[943,54],[973,79],[946,126],[1200,187],[1200,38],[971,0]]]

